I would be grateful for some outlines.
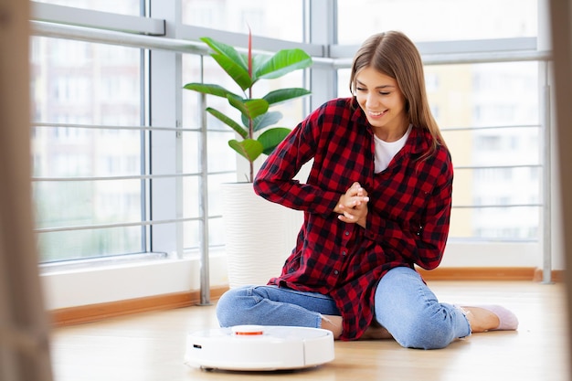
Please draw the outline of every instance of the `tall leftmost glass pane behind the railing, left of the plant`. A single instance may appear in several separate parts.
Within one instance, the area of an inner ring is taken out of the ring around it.
[[[140,50],[32,38],[34,199],[37,228],[142,220]],[[106,126],[101,129],[99,126]],[[109,234],[110,238],[105,238]],[[42,261],[142,251],[143,228],[44,232]]]

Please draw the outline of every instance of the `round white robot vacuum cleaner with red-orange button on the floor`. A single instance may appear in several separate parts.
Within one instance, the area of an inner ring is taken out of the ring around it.
[[[189,333],[185,364],[205,370],[302,369],[334,360],[334,335],[321,328],[237,325]]]

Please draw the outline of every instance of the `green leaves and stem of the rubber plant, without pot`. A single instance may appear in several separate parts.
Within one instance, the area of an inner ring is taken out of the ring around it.
[[[254,161],[262,153],[271,153],[291,131],[285,127],[270,128],[282,118],[280,111],[270,111],[270,107],[310,94],[306,89],[287,88],[273,90],[261,98],[254,98],[253,87],[260,79],[277,79],[294,70],[306,69],[312,65],[312,58],[299,48],[282,49],[273,56],[253,55],[250,34],[247,54],[238,53],[235,48],[209,37],[202,37],[201,40],[214,50],[210,56],[235,81],[242,94],[236,94],[217,84],[194,82],[187,83],[184,88],[226,98],[230,106],[240,112],[241,120],[236,122],[223,112],[207,107],[208,113],[227,124],[241,138],[229,140],[228,145],[249,161],[251,183],[254,179]]]

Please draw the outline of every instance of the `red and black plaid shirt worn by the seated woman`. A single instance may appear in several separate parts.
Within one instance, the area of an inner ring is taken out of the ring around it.
[[[377,282],[398,266],[435,269],[449,234],[450,153],[413,128],[387,169],[374,174],[375,143],[352,99],[328,101],[301,122],[260,168],[254,189],[304,212],[296,247],[269,284],[334,298],[344,318],[343,340],[359,338],[373,319]],[[306,184],[292,180],[313,158]],[[367,225],[344,223],[334,207],[359,182],[367,191]]]

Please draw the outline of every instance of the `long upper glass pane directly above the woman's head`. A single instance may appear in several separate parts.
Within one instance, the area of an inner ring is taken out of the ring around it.
[[[537,17],[537,0],[338,0],[338,43],[392,29],[414,41],[535,37]]]

